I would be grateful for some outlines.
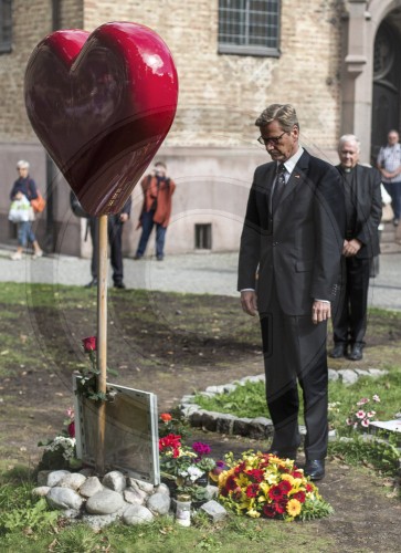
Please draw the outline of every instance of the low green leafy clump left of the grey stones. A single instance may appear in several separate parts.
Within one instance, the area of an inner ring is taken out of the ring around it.
[[[6,511],[1,515],[0,529],[2,532],[44,530],[54,524],[59,518],[56,511],[49,511],[46,500],[41,498],[35,503],[28,500],[24,505]]]

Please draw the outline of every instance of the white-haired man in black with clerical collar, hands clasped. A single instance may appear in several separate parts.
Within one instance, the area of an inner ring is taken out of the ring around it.
[[[347,230],[342,248],[342,285],[333,319],[335,346],[330,356],[362,358],[367,328],[369,275],[379,254],[381,219],[381,177],[376,168],[358,165],[360,143],[355,135],[344,135],[338,143],[346,198]],[[348,345],[351,351],[348,355]]]

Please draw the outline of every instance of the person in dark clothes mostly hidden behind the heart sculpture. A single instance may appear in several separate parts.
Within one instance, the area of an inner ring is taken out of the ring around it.
[[[124,223],[129,219],[131,210],[131,197],[125,202],[124,208],[117,215],[107,217],[108,243],[110,244],[110,262],[113,269],[113,285],[119,290],[124,290],[124,265],[123,265],[123,228]],[[97,286],[97,270],[98,270],[98,251],[97,251],[97,227],[98,217],[89,217],[88,225],[92,238],[92,281],[85,288]]]

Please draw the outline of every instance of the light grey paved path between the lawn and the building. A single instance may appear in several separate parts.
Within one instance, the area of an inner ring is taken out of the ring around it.
[[[163,261],[124,260],[127,288],[236,296],[238,253],[187,253]],[[380,274],[370,281],[369,304],[401,311],[401,253],[380,257]],[[110,274],[109,274],[110,279]],[[0,281],[84,285],[91,280],[88,259],[55,255],[11,261],[0,248]],[[124,293],[124,292],[123,292]]]

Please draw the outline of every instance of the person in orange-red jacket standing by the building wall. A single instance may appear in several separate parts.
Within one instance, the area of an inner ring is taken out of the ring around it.
[[[166,231],[171,216],[171,198],[176,189],[175,182],[167,177],[167,167],[157,161],[150,175],[140,182],[144,191],[144,205],[139,216],[138,228],[143,228],[138,248],[134,259],[144,257],[154,226],[156,226],[156,259],[165,258]]]

